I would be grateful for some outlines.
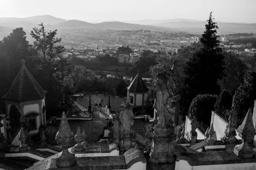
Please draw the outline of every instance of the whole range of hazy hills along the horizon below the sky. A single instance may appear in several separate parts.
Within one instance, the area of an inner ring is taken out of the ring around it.
[[[22,27],[24,31],[30,32],[33,27],[44,23],[47,29],[63,28],[93,28],[93,29],[119,29],[119,30],[152,30],[152,31],[184,31],[196,34],[202,34],[205,30],[206,21],[189,19],[171,19],[171,20],[137,20],[137,21],[111,21],[102,23],[88,23],[80,20],[64,20],[51,15],[41,15],[26,18],[0,17],[0,26],[8,27],[8,30]],[[216,21],[219,27],[218,34],[235,33],[256,33],[256,23],[225,23]],[[2,33],[3,28],[0,30]]]

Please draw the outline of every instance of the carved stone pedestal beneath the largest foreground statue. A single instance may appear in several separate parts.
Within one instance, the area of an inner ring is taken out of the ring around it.
[[[149,161],[154,164],[170,164],[175,162],[171,146],[177,144],[177,142],[175,141],[176,136],[177,134],[174,133],[174,127],[155,127],[152,135],[153,142],[151,146],[151,153],[149,154]]]

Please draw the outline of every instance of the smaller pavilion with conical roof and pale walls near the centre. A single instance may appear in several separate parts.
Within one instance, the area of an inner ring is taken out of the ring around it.
[[[131,82],[127,90],[127,102],[129,102],[133,108],[140,108],[144,105],[144,102],[148,97],[148,88],[140,77],[139,70],[137,76]]]

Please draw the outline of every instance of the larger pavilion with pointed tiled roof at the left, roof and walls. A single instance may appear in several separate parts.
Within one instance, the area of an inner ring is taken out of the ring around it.
[[[45,94],[35,78],[30,74],[25,66],[25,60],[21,60],[21,68],[17,77],[8,92],[2,97],[5,99],[6,116],[12,104],[17,105],[21,111],[20,121],[26,117],[32,129],[30,134],[38,133],[40,124],[46,124],[45,115]]]

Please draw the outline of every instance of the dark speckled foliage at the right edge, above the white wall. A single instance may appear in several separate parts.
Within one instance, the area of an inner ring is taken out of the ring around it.
[[[239,118],[243,119],[249,108],[253,108],[256,96],[256,71],[247,71],[244,84],[240,85],[233,96],[233,107]]]

